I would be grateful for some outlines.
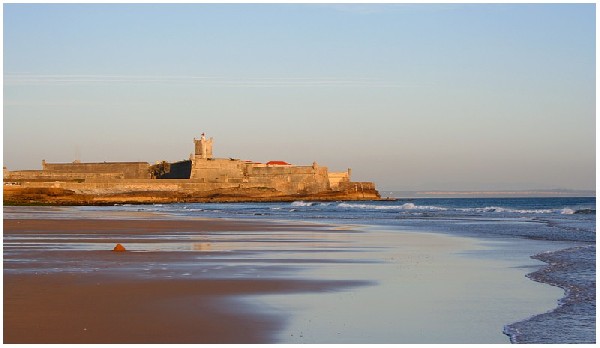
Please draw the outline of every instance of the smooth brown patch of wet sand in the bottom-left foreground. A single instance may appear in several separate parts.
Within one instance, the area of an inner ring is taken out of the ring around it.
[[[265,343],[284,318],[256,315],[227,298],[341,285],[347,284],[8,275],[4,343]]]

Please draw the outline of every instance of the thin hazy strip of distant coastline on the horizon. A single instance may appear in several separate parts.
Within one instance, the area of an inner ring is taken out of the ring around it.
[[[380,190],[382,197],[390,198],[519,198],[519,197],[596,197],[593,190],[506,190],[506,191],[394,191]]]

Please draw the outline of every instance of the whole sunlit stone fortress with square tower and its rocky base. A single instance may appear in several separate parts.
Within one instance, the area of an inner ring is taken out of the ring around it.
[[[190,159],[169,163],[47,163],[42,170],[4,168],[7,204],[111,204],[373,200],[372,182],[352,182],[351,170],[329,172],[284,161],[214,158],[213,139],[194,138]]]

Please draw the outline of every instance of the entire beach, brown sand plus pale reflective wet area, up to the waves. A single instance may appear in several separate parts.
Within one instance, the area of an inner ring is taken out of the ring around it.
[[[264,220],[5,218],[4,343],[508,343],[502,325],[562,291],[493,248]]]

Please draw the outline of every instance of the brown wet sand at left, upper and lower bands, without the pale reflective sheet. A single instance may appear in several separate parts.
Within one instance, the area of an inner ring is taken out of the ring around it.
[[[165,271],[194,263],[203,270],[210,266],[195,260],[195,253],[161,252],[153,244],[174,233],[179,238],[167,243],[202,251],[194,245],[208,243],[189,242],[186,233],[283,228],[314,227],[217,220],[4,220],[4,343],[270,342],[285,318],[256,313],[235,296],[328,291],[360,282],[238,278],[218,267],[202,277],[172,276]],[[116,242],[137,248],[113,252]]]

